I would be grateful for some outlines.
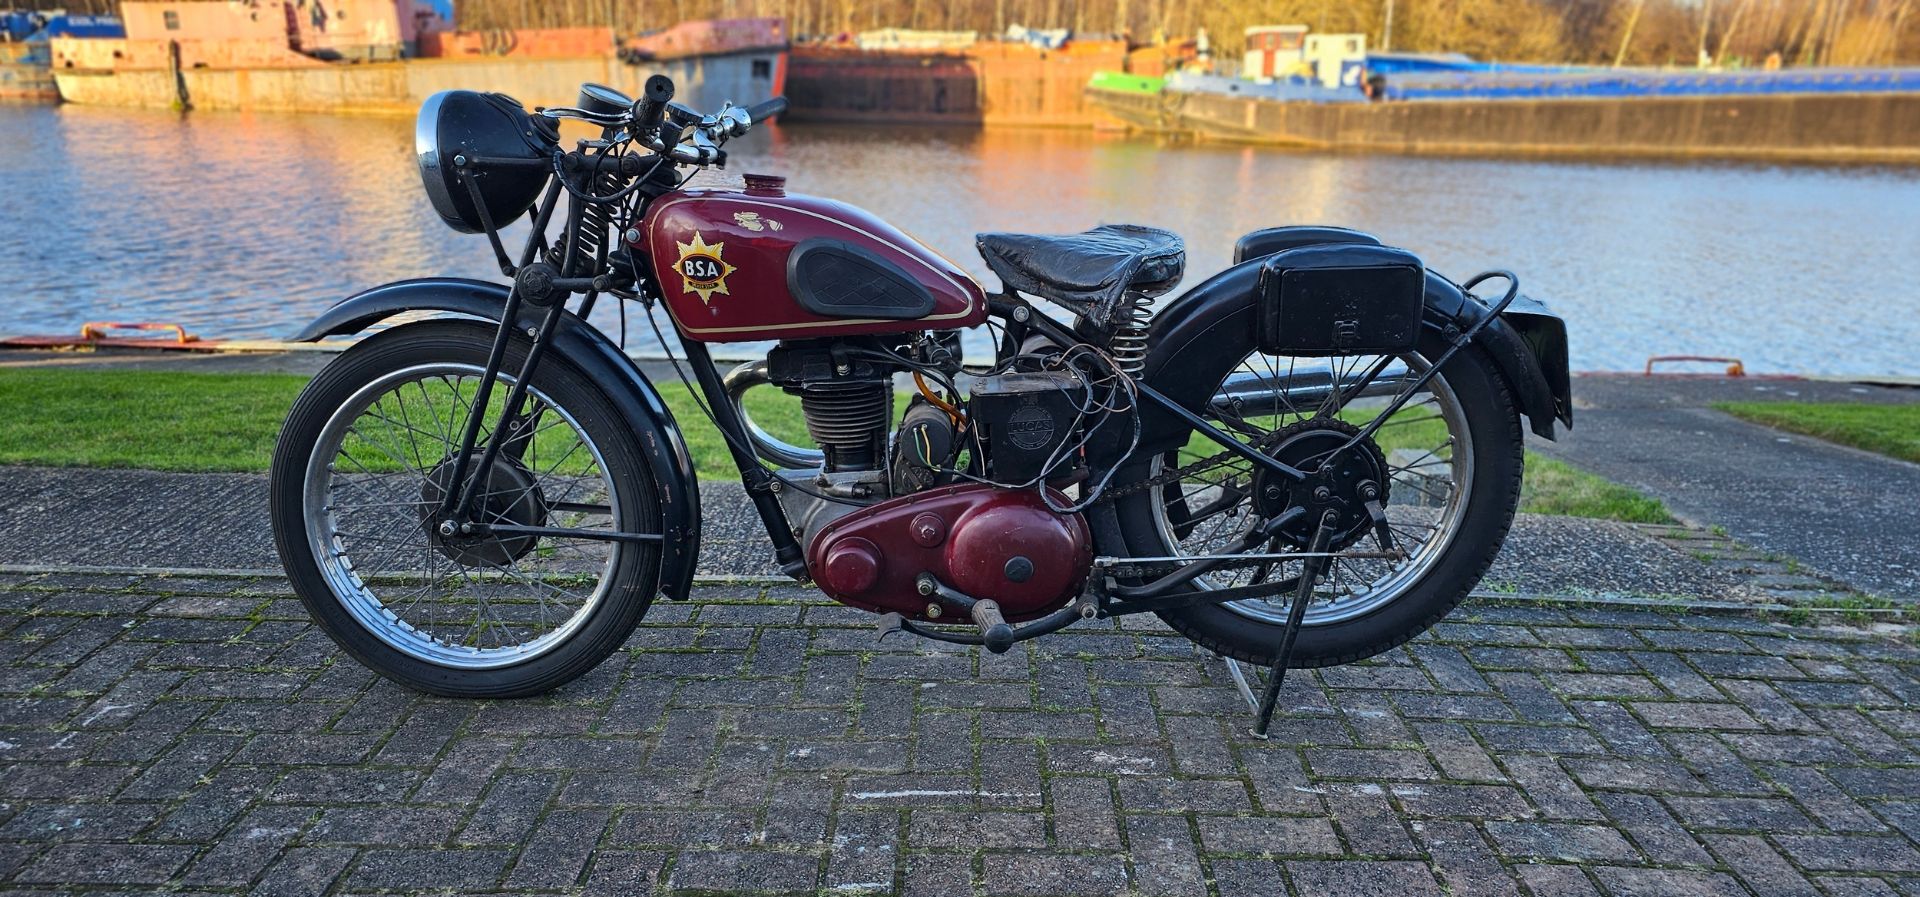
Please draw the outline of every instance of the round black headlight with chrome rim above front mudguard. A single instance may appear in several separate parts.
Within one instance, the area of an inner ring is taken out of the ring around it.
[[[557,134],[545,119],[528,115],[507,94],[442,90],[420,104],[413,127],[426,198],[447,227],[478,234],[486,230],[472,192],[461,171],[480,186],[486,217],[505,227],[526,213],[553,175],[549,158]],[[465,169],[455,158],[465,156]]]

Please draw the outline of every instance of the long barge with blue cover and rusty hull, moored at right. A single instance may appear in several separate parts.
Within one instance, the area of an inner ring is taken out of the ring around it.
[[[1354,86],[1102,73],[1087,96],[1139,131],[1292,148],[1920,163],[1912,67],[1670,71],[1369,54]]]

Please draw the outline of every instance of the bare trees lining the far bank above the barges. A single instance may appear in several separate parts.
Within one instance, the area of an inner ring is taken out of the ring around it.
[[[111,13],[117,2],[29,6]],[[885,27],[1002,33],[1025,25],[1123,35],[1144,44],[1204,29],[1223,56],[1238,54],[1248,25],[1298,23],[1321,33],[1365,33],[1377,50],[1501,61],[1920,61],[1920,0],[455,0],[455,25],[468,31],[612,25],[636,33],[682,19],[756,15],[787,19],[797,38]]]

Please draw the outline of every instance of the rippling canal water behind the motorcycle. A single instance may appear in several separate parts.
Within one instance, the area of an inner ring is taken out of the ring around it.
[[[1569,319],[1572,365],[1738,355],[1755,373],[1920,375],[1920,171],[1536,161],[1169,146],[1079,131],[774,127],[778,173],[893,221],[993,284],[977,230],[1146,223],[1198,282],[1233,240],[1346,225],[1453,279],[1486,267]],[[0,108],[0,334],[167,321],[286,336],[420,275],[497,275],[426,206],[413,123]],[[595,319],[616,328],[612,309]],[[632,348],[653,348],[636,327]],[[977,344],[983,346],[983,344]]]

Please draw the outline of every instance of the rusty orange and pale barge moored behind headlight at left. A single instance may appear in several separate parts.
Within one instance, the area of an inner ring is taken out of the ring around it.
[[[463,33],[411,0],[317,4],[123,0],[123,38],[54,38],[54,79],[75,104],[411,115],[447,88],[570,104],[582,83],[632,94],[666,73],[682,100],[753,104],[783,88],[781,19]]]

